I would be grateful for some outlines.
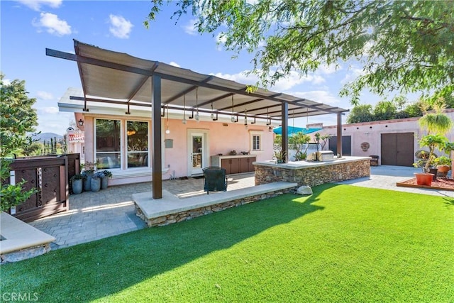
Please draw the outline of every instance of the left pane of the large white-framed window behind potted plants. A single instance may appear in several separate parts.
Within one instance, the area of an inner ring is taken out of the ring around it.
[[[96,119],[96,161],[98,169],[120,168],[121,121]]]

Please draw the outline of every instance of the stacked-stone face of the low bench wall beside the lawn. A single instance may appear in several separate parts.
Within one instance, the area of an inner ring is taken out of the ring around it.
[[[230,209],[231,207],[236,207],[244,204],[249,204],[252,202],[257,202],[263,199],[268,199],[272,197],[277,197],[281,194],[287,194],[289,192],[295,192],[296,187],[290,189],[277,190],[275,192],[267,192],[265,194],[256,194],[250,197],[244,197],[242,199],[234,199],[232,201],[223,202],[219,204],[213,204],[209,206],[199,207],[197,209],[189,209],[187,211],[180,211],[175,214],[167,214],[166,216],[158,216],[156,218],[148,219],[143,212],[140,210],[137,204],[135,204],[135,214],[145,221],[149,227],[153,226],[165,226],[168,224],[173,224],[181,221],[191,220],[198,216],[204,216],[206,214],[212,214],[217,211],[223,211],[224,209]]]

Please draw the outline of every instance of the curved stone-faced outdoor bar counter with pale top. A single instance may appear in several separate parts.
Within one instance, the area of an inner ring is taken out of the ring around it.
[[[331,161],[253,162],[255,185],[286,181],[310,187],[360,177],[370,177],[370,157],[343,157]]]

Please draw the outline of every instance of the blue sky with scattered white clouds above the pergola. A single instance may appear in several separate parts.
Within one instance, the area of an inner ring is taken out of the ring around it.
[[[236,58],[218,44],[215,35],[194,29],[194,17],[172,19],[172,4],[163,7],[147,29],[143,21],[150,1],[0,1],[0,71],[6,82],[26,81],[29,98],[37,101],[37,131],[63,135],[74,114],[59,112],[57,102],[68,87],[80,88],[76,62],[45,55],[45,48],[74,53],[73,39],[99,48],[128,53],[206,75],[255,84],[257,77],[244,75],[252,69],[252,55]],[[306,77],[294,72],[268,89],[296,97],[351,109],[349,99],[338,93],[343,84],[360,75],[361,68],[343,65],[339,70],[323,66]],[[360,103],[375,104],[380,97],[365,92]],[[290,126],[306,127],[308,119],[289,121]],[[343,116],[343,123],[346,116]],[[309,123],[335,125],[336,115],[309,117]]]

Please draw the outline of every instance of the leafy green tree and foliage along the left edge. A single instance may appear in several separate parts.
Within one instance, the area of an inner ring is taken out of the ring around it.
[[[24,180],[8,184],[11,160],[5,157],[31,144],[31,136],[26,133],[35,131],[34,126],[38,125],[36,111],[31,107],[36,100],[28,99],[25,82],[13,80],[4,84],[3,79],[0,74],[0,211],[25,202],[35,193],[34,188],[23,190]]]

